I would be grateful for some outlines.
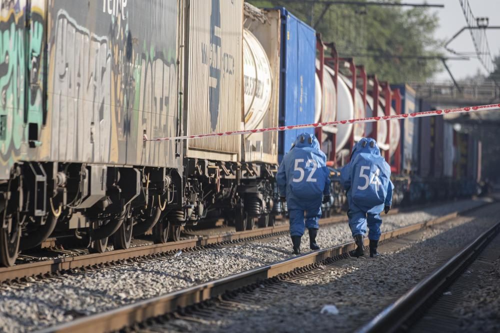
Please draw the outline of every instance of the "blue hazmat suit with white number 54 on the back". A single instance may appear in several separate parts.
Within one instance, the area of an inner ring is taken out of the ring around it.
[[[392,203],[394,185],[390,181],[390,166],[380,156],[372,138],[362,138],[352,149],[349,163],[340,171],[340,181],[346,191],[349,227],[352,237],[366,234],[368,239],[380,238],[380,213]]]

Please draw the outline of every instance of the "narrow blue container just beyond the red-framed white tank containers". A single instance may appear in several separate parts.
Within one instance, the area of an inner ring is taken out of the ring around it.
[[[416,100],[415,90],[407,84],[391,85],[401,93],[401,113],[410,114],[419,112],[419,103]],[[392,105],[395,107],[395,105]],[[401,126],[401,172],[405,174],[418,172],[419,154],[419,119],[406,118]]]

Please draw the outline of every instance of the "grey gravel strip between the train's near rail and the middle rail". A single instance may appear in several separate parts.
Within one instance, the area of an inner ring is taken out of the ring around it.
[[[467,210],[485,202],[487,199],[461,200],[415,212],[383,216],[382,231]],[[351,240],[345,222],[320,229],[317,243],[324,248]],[[111,310],[290,258],[290,250],[289,237],[282,236],[18,285],[0,285],[0,332],[29,332],[79,316]],[[309,251],[307,233],[302,238],[301,251]]]

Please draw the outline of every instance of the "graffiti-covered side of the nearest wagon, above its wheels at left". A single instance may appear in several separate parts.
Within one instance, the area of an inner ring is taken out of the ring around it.
[[[174,143],[142,143],[177,134],[177,37],[158,28],[177,6],[166,2],[103,0],[86,26],[80,1],[45,13],[44,0],[0,0],[0,179],[19,159],[172,165]],[[130,6],[150,24],[124,22]]]

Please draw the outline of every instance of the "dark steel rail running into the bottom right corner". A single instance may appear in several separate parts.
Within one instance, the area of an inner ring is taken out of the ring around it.
[[[499,231],[500,222],[497,222],[356,332],[395,332],[403,326],[407,329],[407,324],[411,324],[435,296],[453,283]]]

